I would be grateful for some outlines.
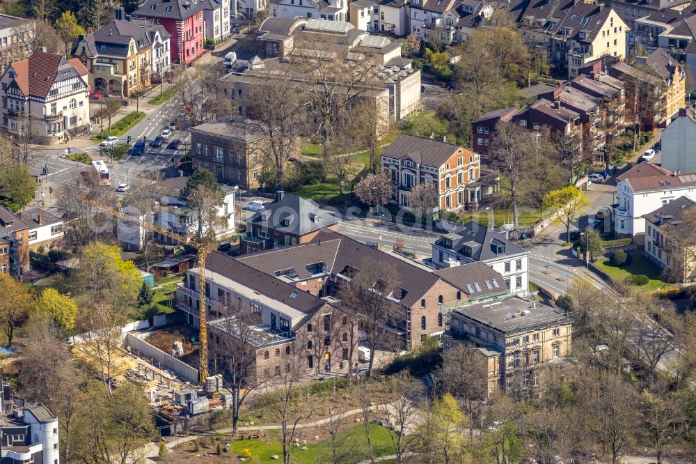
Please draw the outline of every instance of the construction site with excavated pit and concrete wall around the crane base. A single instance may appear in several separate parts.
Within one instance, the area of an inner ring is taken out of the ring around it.
[[[113,388],[125,382],[139,385],[155,412],[161,435],[166,436],[208,424],[211,417],[230,408],[232,392],[223,388],[222,376],[208,376],[203,385],[198,382],[198,350],[198,331],[177,325],[125,330],[120,343],[79,340],[72,351],[92,366],[97,378],[108,378]]]

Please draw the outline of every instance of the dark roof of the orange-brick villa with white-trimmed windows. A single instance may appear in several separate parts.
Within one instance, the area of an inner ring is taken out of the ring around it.
[[[382,156],[395,158],[397,160],[409,157],[413,162],[418,164],[441,167],[454,155],[454,153],[457,153],[458,150],[461,150],[461,153],[464,154],[473,154],[459,145],[427,139],[426,137],[400,134],[395,141],[384,149]]]

